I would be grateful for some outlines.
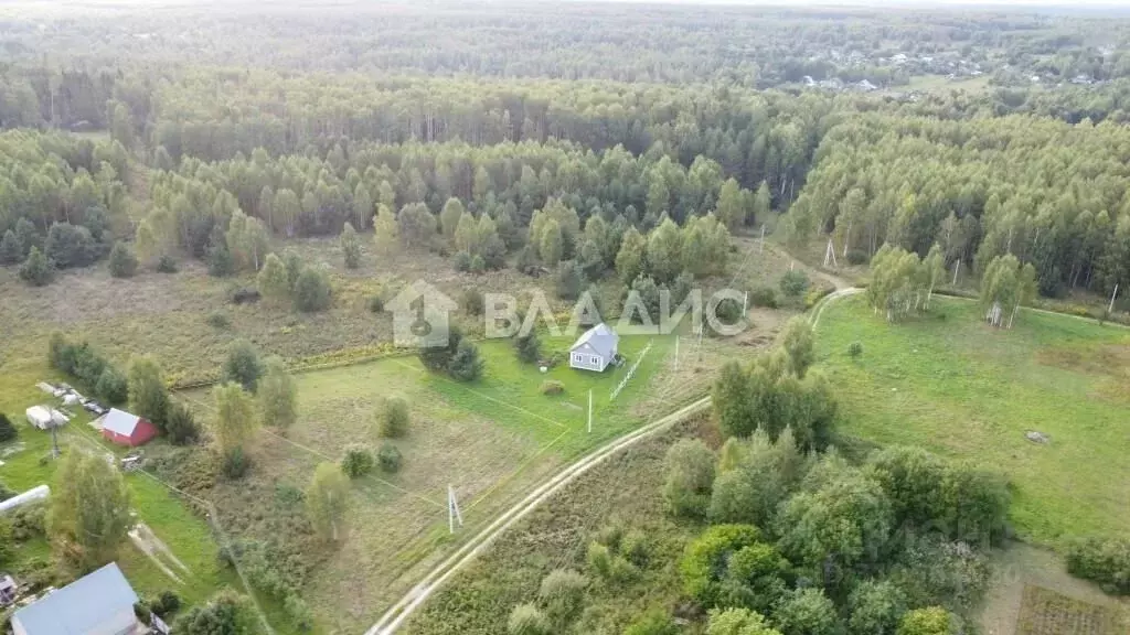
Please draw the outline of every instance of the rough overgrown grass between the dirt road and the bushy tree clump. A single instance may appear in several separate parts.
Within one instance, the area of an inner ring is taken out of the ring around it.
[[[702,432],[699,432],[702,427]],[[684,424],[609,458],[554,495],[433,595],[405,632],[472,635],[506,632],[515,606],[534,601],[551,571],[586,568],[586,548],[609,528],[642,532],[649,563],[636,581],[590,585],[579,633],[620,633],[650,610],[667,611],[681,593],[676,564],[701,527],[664,513],[663,456],[703,421]]]

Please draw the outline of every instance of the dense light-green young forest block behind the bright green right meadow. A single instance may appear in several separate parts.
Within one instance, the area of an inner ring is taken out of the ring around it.
[[[1128,141],[1110,122],[862,115],[825,138],[789,224],[859,262],[937,243],[949,270],[1012,255],[1044,295],[1109,294],[1130,281]]]

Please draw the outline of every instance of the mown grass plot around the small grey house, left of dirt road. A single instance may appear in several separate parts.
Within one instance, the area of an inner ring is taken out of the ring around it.
[[[542,337],[542,356],[567,350],[572,337]],[[615,400],[611,391],[652,341],[635,376]],[[298,420],[285,436],[263,429],[249,449],[244,479],[214,489],[218,513],[251,510],[278,485],[304,488],[319,462],[340,460],[347,446],[377,447],[374,412],[382,398],[403,397],[411,410],[406,436],[392,440],[403,455],[399,472],[353,484],[348,538],[321,554],[303,597],[320,632],[358,632],[411,589],[418,574],[473,536],[499,511],[568,461],[643,419],[632,414],[652,395],[651,381],[673,346],[670,337],[625,337],[627,363],[605,373],[575,371],[567,360],[541,373],[521,364],[510,340],[484,341],[484,376],[459,383],[428,373],[415,356],[298,373]],[[541,393],[559,381],[560,394]],[[588,433],[589,391],[593,430]],[[212,416],[207,390],[179,393],[203,421]],[[673,407],[672,407],[673,409]],[[447,487],[454,488],[464,527],[447,528]],[[240,508],[246,510],[237,511]],[[262,510],[269,513],[269,510]],[[264,536],[249,536],[264,539]]]

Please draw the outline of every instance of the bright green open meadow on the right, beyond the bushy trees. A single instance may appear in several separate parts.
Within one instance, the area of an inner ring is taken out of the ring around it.
[[[1023,311],[1011,330],[977,304],[937,297],[888,324],[860,296],[817,327],[842,429],[879,444],[921,445],[1005,472],[1011,520],[1042,543],[1116,534],[1130,522],[1130,330]],[[853,360],[849,345],[863,354]],[[1051,437],[1036,444],[1035,430]]]

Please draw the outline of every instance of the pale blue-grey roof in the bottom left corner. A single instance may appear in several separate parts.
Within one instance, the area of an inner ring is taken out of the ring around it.
[[[89,633],[138,601],[116,563],[99,568],[41,598],[12,616],[27,635],[81,635]]]

